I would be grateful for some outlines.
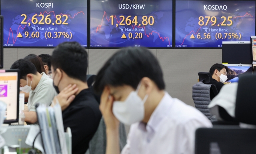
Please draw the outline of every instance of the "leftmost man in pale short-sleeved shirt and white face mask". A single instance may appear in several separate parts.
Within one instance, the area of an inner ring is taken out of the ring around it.
[[[44,72],[37,72],[36,66],[28,60],[20,59],[12,64],[11,69],[20,70],[20,90],[29,94],[28,110],[24,110],[25,122],[37,122],[36,103],[49,106],[54,96],[57,95],[52,86],[52,79]]]

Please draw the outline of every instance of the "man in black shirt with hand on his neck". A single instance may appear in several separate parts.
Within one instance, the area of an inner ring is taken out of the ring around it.
[[[64,42],[52,53],[53,84],[59,93],[64,129],[71,128],[72,154],[84,154],[101,119],[86,82],[88,54],[78,42]],[[55,99],[54,99],[55,100]]]

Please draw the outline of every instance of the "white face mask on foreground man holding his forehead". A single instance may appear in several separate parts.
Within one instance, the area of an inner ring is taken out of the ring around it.
[[[131,125],[135,122],[140,122],[144,118],[144,103],[148,98],[148,94],[142,100],[138,96],[138,90],[140,89],[140,84],[138,85],[136,91],[130,92],[126,100],[114,101],[113,103],[113,113],[116,118],[127,125]]]

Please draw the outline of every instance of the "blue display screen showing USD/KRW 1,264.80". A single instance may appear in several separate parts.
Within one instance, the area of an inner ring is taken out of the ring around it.
[[[172,48],[172,0],[91,0],[90,47]]]

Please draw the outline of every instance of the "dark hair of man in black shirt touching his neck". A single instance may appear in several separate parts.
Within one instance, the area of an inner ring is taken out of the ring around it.
[[[52,67],[60,68],[69,77],[86,82],[88,54],[78,42],[63,42],[52,52]]]

